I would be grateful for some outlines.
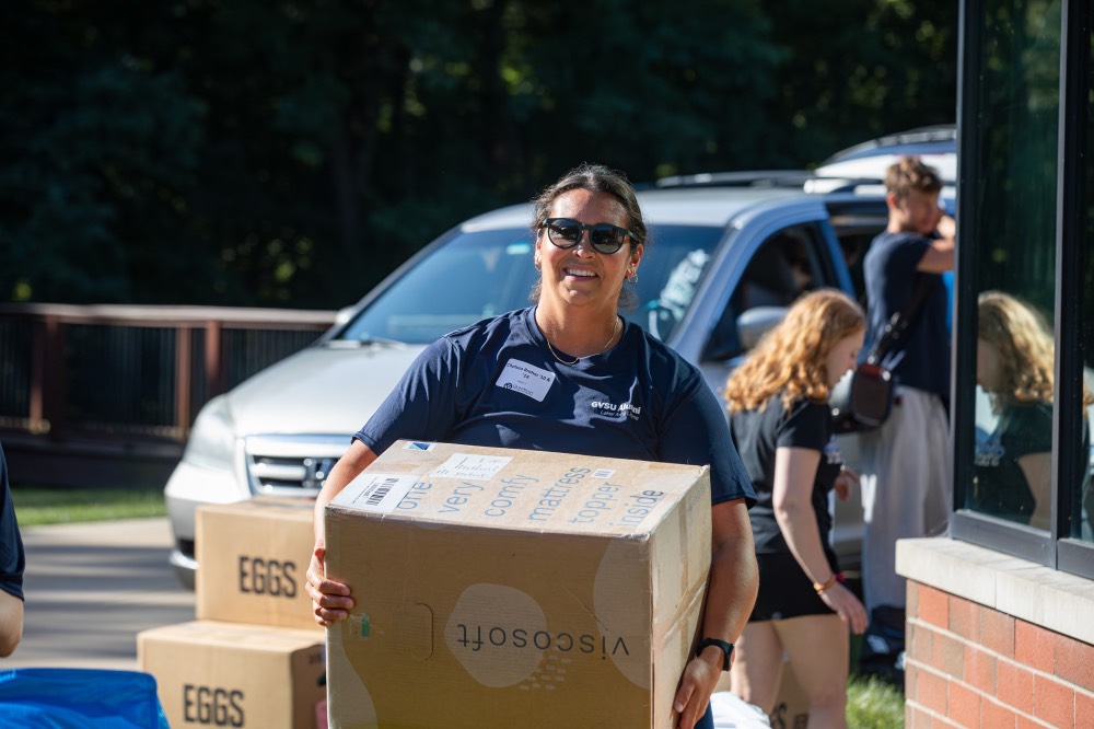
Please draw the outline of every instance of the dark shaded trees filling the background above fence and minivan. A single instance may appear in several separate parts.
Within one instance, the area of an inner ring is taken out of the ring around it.
[[[574,164],[952,121],[956,3],[0,3],[0,299],[340,306]]]

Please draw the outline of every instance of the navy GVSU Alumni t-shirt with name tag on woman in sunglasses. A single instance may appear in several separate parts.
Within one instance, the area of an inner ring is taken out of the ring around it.
[[[709,464],[713,504],[755,501],[702,374],[626,322],[619,344],[573,364],[547,348],[534,308],[452,332],[354,438],[376,453],[410,439]]]

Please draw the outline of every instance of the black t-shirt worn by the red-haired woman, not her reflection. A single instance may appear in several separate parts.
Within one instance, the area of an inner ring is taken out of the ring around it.
[[[821,452],[811,501],[825,555],[835,569],[836,555],[829,544],[831,514],[828,511],[828,491],[835,486],[843,459],[836,445],[829,406],[801,398],[794,401],[788,412],[782,407],[781,393],[776,393],[759,409],[734,413],[730,418],[730,429],[745,472],[756,490],[756,506],[748,516],[757,554],[790,554],[787,540],[775,519],[772,505],[776,450],[806,448]]]

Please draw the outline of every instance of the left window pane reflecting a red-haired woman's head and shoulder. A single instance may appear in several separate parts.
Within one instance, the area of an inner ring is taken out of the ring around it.
[[[985,5],[976,105],[976,454],[964,506],[1048,529],[1060,68],[1058,1]],[[970,343],[971,344],[971,343]]]

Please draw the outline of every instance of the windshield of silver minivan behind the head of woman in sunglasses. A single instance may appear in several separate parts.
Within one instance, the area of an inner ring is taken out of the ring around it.
[[[626,314],[667,339],[691,303],[723,230],[662,225],[650,231]],[[497,314],[529,305],[536,279],[533,238],[525,229],[461,232],[408,269],[341,333],[341,339],[429,344]]]

